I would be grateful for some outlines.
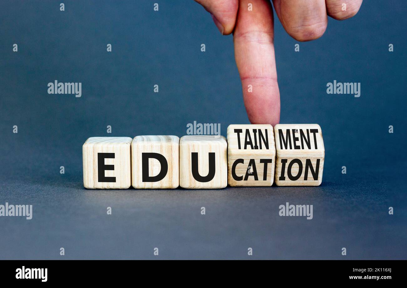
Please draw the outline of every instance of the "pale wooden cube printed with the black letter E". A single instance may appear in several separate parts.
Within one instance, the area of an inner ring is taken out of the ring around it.
[[[131,185],[130,137],[90,137],[82,146],[83,186],[127,189]]]

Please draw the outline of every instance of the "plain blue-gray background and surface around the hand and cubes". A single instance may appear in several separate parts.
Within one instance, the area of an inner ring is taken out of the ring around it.
[[[0,259],[406,259],[404,1],[365,0],[299,53],[275,18],[280,123],[322,127],[322,185],[221,190],[86,190],[81,148],[248,123],[232,36],[192,0],[60,2],[0,4],[0,204],[33,204],[32,220],[0,217]],[[82,97],[49,95],[55,79]],[[326,94],[333,80],[361,97]],[[313,220],[278,216],[285,202]]]

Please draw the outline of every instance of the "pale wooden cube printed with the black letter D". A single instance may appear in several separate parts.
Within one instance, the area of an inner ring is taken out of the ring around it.
[[[131,143],[131,185],[136,189],[177,188],[179,137],[134,137]]]

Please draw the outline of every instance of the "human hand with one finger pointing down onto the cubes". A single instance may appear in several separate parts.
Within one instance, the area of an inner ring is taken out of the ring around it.
[[[273,10],[269,0],[195,0],[212,14],[223,35],[233,33],[234,55],[243,88],[243,100],[253,124],[280,121],[274,57]],[[328,15],[337,20],[354,16],[362,0],[272,0],[285,31],[298,41],[321,37]],[[248,4],[252,4],[249,11]],[[343,3],[346,10],[343,11]],[[252,85],[252,92],[248,86]]]

